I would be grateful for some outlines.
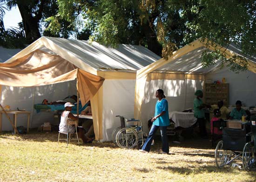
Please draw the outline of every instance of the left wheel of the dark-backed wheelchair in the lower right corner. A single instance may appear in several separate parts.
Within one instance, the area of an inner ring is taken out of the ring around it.
[[[218,168],[222,168],[228,162],[228,154],[223,150],[223,141],[219,141],[215,149],[215,162]]]

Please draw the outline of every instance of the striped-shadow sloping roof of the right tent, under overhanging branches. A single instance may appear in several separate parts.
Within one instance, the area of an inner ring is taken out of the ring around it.
[[[205,40],[206,42],[206,40]],[[215,61],[215,65],[210,66],[209,68],[202,68],[202,52],[204,50],[214,51],[216,49],[224,52],[224,55],[227,58],[235,54],[241,54],[241,50],[236,48],[233,44],[230,44],[228,47],[221,47],[219,45],[209,45],[206,47],[205,43],[202,42],[202,38],[198,38],[194,42],[182,47],[179,50],[173,52],[172,56],[168,57],[168,60],[164,58],[152,63],[140,70],[137,71],[137,78],[143,75],[146,75],[150,72],[162,72],[162,73],[183,73],[183,74],[208,74],[209,72],[215,70],[220,66],[220,60]],[[248,61],[248,69],[256,73],[256,58],[245,56]]]

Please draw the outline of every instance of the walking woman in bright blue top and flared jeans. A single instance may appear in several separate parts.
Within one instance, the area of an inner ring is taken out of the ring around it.
[[[165,95],[162,89],[158,89],[155,93],[155,97],[158,98],[155,104],[155,117],[151,119],[153,125],[148,134],[148,138],[143,144],[141,152],[149,152],[152,140],[155,137],[157,129],[160,127],[162,138],[162,154],[169,153],[169,144],[166,129],[170,125],[169,113],[168,113],[168,101],[165,99]]]

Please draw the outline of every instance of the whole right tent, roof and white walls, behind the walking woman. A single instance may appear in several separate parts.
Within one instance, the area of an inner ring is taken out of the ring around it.
[[[240,74],[232,73],[227,68],[220,69],[221,62],[216,60],[214,66],[202,68],[202,52],[214,50],[214,45],[206,47],[201,39],[197,39],[181,49],[175,51],[168,60],[164,58],[137,71],[135,91],[135,118],[144,124],[154,115],[155,91],[163,89],[169,103],[169,111],[182,111],[193,108],[194,93],[203,89],[205,80],[222,80],[229,82],[229,100],[247,101],[247,105],[256,104],[256,63],[255,59],[248,59],[249,71]],[[217,46],[229,58],[233,54],[240,54],[233,45],[226,48]],[[242,86],[242,87],[241,87]],[[246,100],[247,98],[247,100]]]

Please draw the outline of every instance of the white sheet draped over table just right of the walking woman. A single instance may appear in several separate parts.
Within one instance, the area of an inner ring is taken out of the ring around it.
[[[175,122],[175,127],[188,128],[196,122],[194,113],[183,113],[178,111],[169,112],[169,117]]]

